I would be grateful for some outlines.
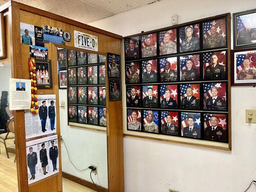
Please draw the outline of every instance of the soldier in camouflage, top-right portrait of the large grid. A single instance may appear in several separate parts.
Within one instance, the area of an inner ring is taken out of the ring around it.
[[[223,36],[217,33],[217,28],[215,25],[211,26],[211,35],[207,36],[204,48],[218,48],[225,46],[225,41]]]

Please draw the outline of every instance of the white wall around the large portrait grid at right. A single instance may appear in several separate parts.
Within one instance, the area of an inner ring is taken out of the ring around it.
[[[255,0],[161,0],[90,25],[128,36],[170,26],[175,14],[184,23],[253,5]],[[255,96],[255,87],[232,87],[232,151],[124,137],[125,192],[244,192],[256,180],[256,124],[245,123]],[[248,192],[255,190],[254,184]]]

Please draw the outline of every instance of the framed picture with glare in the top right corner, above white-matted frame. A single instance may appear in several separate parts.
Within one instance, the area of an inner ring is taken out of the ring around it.
[[[234,48],[256,45],[256,9],[233,13]]]

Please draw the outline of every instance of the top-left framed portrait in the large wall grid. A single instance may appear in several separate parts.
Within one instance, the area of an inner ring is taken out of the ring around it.
[[[139,59],[139,36],[124,39],[125,60]]]

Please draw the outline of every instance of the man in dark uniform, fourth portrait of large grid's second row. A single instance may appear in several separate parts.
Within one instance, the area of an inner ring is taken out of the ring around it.
[[[193,67],[192,60],[186,61],[186,67],[187,69],[182,72],[181,80],[200,80],[199,71]]]

